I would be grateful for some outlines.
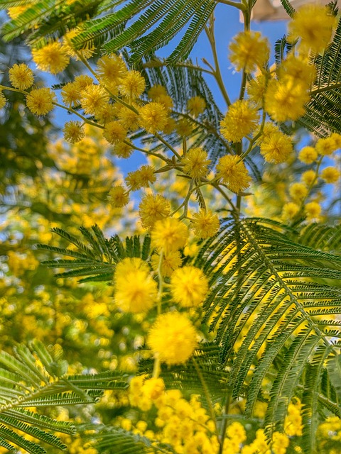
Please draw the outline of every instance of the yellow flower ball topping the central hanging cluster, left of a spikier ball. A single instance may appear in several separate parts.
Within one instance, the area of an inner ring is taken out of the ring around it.
[[[175,218],[156,221],[151,231],[151,245],[166,255],[183,248],[188,240],[187,226]]]

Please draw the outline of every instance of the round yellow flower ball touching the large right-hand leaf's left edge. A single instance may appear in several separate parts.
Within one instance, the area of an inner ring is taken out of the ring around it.
[[[197,307],[207,295],[208,279],[199,268],[185,266],[173,272],[170,288],[173,300],[180,306]]]

